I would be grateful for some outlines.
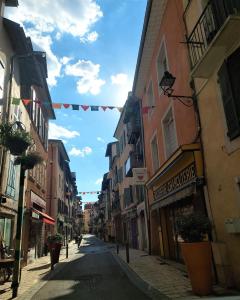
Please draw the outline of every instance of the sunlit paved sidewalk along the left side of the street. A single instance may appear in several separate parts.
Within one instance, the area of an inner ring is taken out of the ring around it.
[[[77,256],[77,244],[74,241],[70,242],[68,248],[68,258],[66,258],[66,247],[61,249],[59,263],[54,266],[54,270],[51,271],[50,255],[38,258],[35,262],[27,265],[22,269],[22,278],[18,289],[18,297],[25,299],[25,293],[31,294],[35,291],[34,287],[40,288],[41,285],[46,283],[46,280],[42,280],[48,276],[49,278],[59,272],[66,262],[73,260]],[[78,254],[79,256],[79,254]],[[31,289],[31,290],[30,290]],[[7,282],[0,285],[0,299],[9,300],[12,298],[11,282]],[[30,299],[30,297],[29,297]]]

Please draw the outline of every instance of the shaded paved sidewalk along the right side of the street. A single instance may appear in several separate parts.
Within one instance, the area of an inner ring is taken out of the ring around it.
[[[112,247],[111,247],[112,248]],[[114,256],[124,263],[126,267],[130,267],[142,280],[149,286],[160,293],[167,296],[169,299],[215,299],[223,296],[223,299],[240,299],[235,291],[225,290],[219,286],[214,286],[214,292],[211,297],[198,297],[191,291],[191,284],[187,277],[187,272],[182,264],[166,261],[158,256],[150,256],[141,250],[129,249],[129,264],[126,266],[126,250],[120,247],[119,254],[116,254],[115,249],[112,250]]]

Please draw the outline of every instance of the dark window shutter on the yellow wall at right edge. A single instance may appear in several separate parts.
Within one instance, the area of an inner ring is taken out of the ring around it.
[[[226,116],[226,122],[228,127],[228,136],[230,140],[233,140],[240,135],[240,122],[236,112],[236,106],[232,93],[231,82],[228,75],[227,63],[223,63],[218,72],[219,84],[222,94],[223,107]]]

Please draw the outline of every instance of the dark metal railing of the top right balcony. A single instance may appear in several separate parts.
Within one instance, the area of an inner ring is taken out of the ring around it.
[[[202,58],[229,15],[239,15],[239,0],[210,0],[188,37],[192,67]]]

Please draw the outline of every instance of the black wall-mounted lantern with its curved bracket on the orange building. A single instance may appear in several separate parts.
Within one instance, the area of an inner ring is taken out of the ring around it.
[[[168,71],[164,72],[164,75],[159,83],[160,88],[162,89],[164,95],[168,96],[169,98],[175,98],[179,100],[182,104],[191,107],[193,106],[193,100],[194,98],[192,96],[183,96],[183,95],[174,95],[174,89],[173,85],[176,81],[176,77],[174,77],[171,73]],[[183,100],[191,100],[191,104],[184,103]]]

